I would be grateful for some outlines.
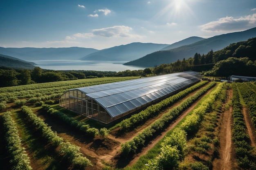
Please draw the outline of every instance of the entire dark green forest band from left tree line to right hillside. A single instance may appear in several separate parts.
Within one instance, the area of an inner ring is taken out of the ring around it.
[[[195,53],[193,57],[161,64],[144,70],[113,71],[54,71],[40,67],[14,69],[0,67],[0,87],[55,82],[97,77],[148,76],[181,71],[198,71],[203,76],[228,77],[243,75],[256,77],[256,38],[230,44],[222,50],[209,51],[207,54]]]

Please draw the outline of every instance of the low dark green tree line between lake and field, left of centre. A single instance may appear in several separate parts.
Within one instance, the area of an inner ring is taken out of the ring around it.
[[[40,67],[29,69],[15,69],[0,67],[0,87],[35,84],[44,82],[57,82],[74,79],[98,77],[126,77],[146,76],[143,70],[126,71],[54,71]]]

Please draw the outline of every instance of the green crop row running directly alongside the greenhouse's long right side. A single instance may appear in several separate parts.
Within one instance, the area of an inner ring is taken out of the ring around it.
[[[145,110],[142,110],[140,113],[134,114],[128,119],[124,119],[117,126],[120,126],[122,130],[130,130],[130,128],[134,128],[136,125],[143,123],[143,121],[146,121],[150,117],[158,115],[159,112],[164,108],[170,106],[171,104],[174,104],[175,102],[184,98],[192,91],[195,91],[196,89],[204,86],[207,83],[208,81],[202,81],[189,88],[186,88],[184,91],[181,91],[171,97],[168,97],[167,99],[162,100],[157,104],[148,106]]]

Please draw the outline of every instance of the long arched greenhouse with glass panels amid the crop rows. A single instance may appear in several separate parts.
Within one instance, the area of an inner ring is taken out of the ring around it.
[[[71,89],[59,105],[105,124],[132,114],[200,81],[188,71]]]

